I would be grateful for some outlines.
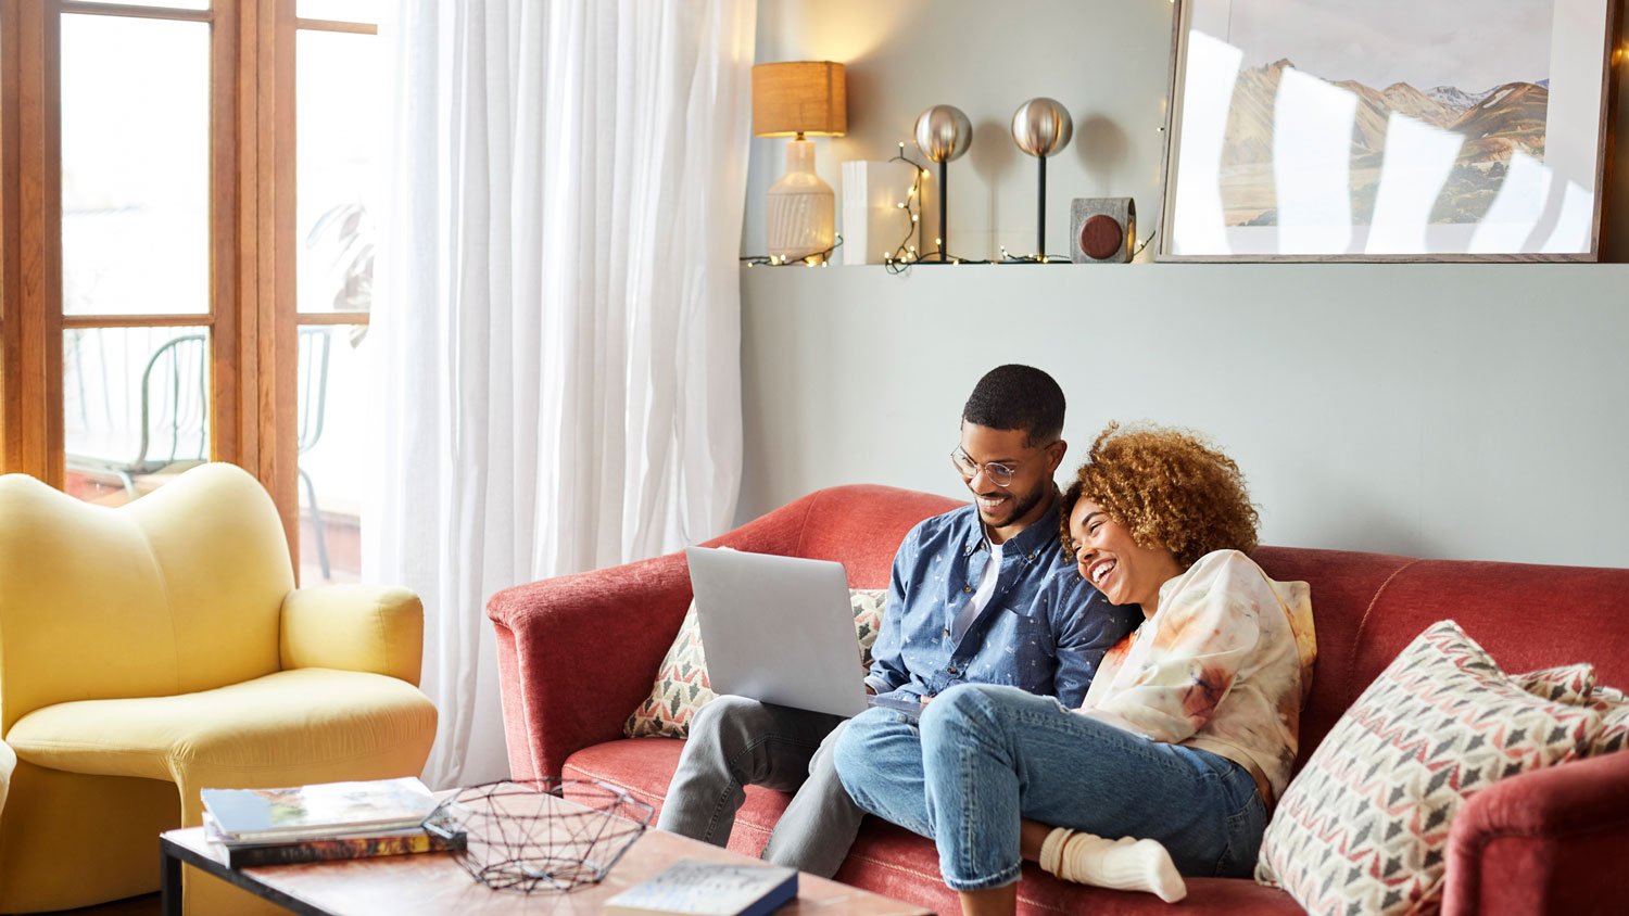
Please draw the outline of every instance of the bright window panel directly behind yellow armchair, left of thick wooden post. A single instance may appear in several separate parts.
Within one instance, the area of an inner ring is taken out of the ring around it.
[[[212,24],[59,23],[64,483],[122,504],[212,454]]]

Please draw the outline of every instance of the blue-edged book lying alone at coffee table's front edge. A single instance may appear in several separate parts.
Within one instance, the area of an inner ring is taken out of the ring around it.
[[[604,913],[762,916],[797,895],[797,869],[679,859],[660,875],[606,900]]]

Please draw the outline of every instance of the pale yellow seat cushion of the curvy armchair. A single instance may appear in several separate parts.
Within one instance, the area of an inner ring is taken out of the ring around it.
[[[205,768],[261,784],[256,774],[314,771],[433,732],[435,706],[407,682],[298,669],[199,693],[59,703],[5,737],[20,758],[68,773],[179,781]]]

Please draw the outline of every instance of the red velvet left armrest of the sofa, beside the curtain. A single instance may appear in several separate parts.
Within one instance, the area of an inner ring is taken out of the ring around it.
[[[572,753],[621,737],[689,602],[683,553],[492,595],[510,774],[559,776]]]

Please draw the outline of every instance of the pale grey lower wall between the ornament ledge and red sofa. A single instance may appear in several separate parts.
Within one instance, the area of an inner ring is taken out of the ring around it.
[[[1565,291],[1562,291],[1565,290]],[[1214,436],[1262,540],[1629,566],[1629,265],[754,268],[740,517],[810,490],[961,491],[956,420],[1023,361],[1109,420]]]

